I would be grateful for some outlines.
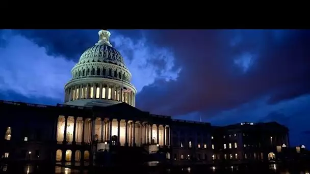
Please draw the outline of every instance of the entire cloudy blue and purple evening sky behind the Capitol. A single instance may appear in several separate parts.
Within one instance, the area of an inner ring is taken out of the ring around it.
[[[110,30],[138,108],[227,125],[277,121],[310,146],[310,31]],[[63,103],[98,30],[0,30],[0,100]],[[42,115],[44,117],[44,115]]]

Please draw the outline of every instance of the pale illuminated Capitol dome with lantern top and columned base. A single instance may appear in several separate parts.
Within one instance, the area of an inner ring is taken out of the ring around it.
[[[72,68],[65,85],[65,104],[109,106],[121,102],[135,106],[136,89],[123,57],[109,42],[110,32],[98,32],[99,41],[86,49]]]

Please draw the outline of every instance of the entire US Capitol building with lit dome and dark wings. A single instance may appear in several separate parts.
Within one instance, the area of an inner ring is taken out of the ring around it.
[[[270,160],[279,146],[289,146],[288,129],[274,122],[215,127],[135,108],[132,74],[109,42],[110,32],[98,34],[99,41],[86,49],[71,70],[64,104],[0,101],[1,160],[207,164]],[[264,150],[254,148],[257,144]]]

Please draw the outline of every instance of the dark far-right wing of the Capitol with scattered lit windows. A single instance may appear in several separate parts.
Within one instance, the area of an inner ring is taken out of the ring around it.
[[[283,149],[289,147],[288,128],[276,122],[239,123],[213,128],[214,160],[275,160]]]

